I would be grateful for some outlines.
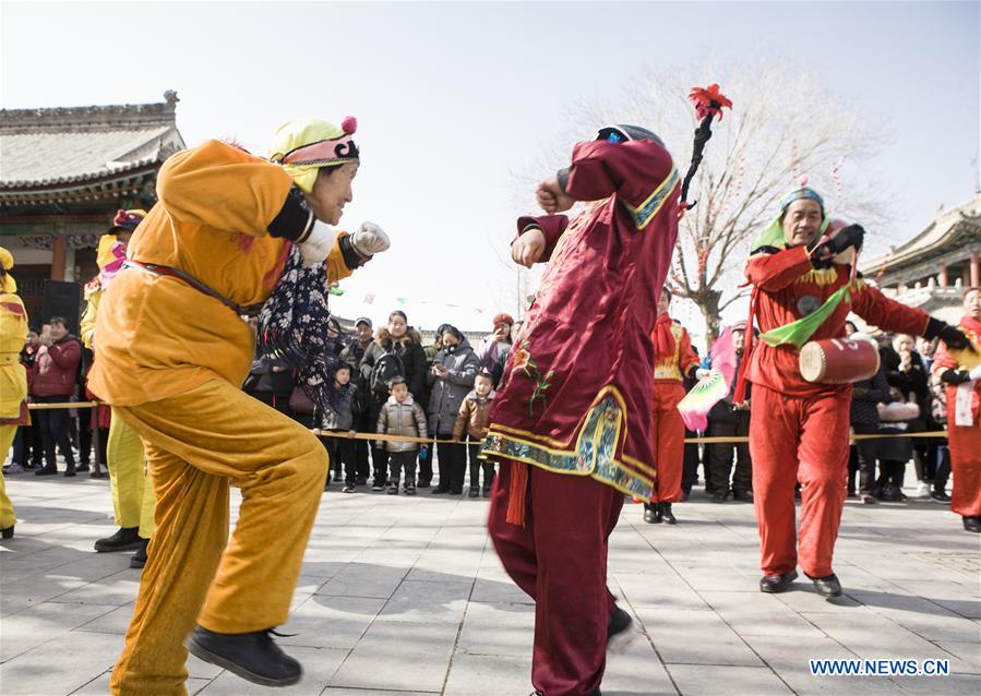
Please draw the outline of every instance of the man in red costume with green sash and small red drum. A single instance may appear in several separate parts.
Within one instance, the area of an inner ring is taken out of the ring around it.
[[[885,331],[938,336],[959,348],[968,345],[955,327],[895,302],[854,277],[854,253],[864,238],[860,226],[822,236],[827,229],[821,195],[798,189],[783,200],[780,215],[754,244],[746,265],[753,285],[750,312],[763,333],[741,365],[733,401],[743,399],[744,381],[752,382],[750,452],[764,592],[787,590],[800,562],[821,595],[841,593],[832,556],[848,479],[851,385],[840,383],[844,380],[836,373],[842,369],[840,356],[847,364],[852,349],[841,352],[822,339],[844,338],[851,311]],[[845,252],[850,252],[850,264],[842,261]],[[802,376],[800,349],[807,340],[822,344],[810,350],[820,348],[828,360],[837,357],[837,364],[826,371],[829,381],[814,383]],[[854,368],[850,381],[868,372],[858,357],[850,365]],[[793,502],[798,481],[799,542]]]

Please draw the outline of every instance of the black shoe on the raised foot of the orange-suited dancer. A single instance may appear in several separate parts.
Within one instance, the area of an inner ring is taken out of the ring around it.
[[[272,628],[252,633],[214,633],[196,626],[188,638],[188,652],[211,664],[225,668],[243,680],[263,686],[289,686],[300,681],[300,663],[283,652],[270,634]]]

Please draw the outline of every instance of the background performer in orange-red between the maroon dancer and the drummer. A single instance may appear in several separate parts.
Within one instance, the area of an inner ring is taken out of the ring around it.
[[[665,290],[667,293],[667,290]],[[665,296],[662,296],[665,297]],[[659,314],[654,332],[654,434],[657,479],[650,503],[644,505],[644,521],[675,524],[671,503],[681,500],[684,468],[684,421],[678,405],[684,398],[683,379],[698,367],[689,332],[667,313]]]

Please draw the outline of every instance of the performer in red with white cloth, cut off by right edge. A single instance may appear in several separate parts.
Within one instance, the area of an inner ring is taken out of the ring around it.
[[[950,511],[961,516],[966,530],[977,533],[981,532],[981,288],[964,293],[964,307],[960,329],[974,352],[941,345],[933,369],[947,385],[947,441],[954,472]]]

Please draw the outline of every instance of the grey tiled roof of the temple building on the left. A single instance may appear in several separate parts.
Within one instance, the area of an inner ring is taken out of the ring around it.
[[[76,188],[146,167],[183,148],[166,103],[0,110],[0,191]]]

